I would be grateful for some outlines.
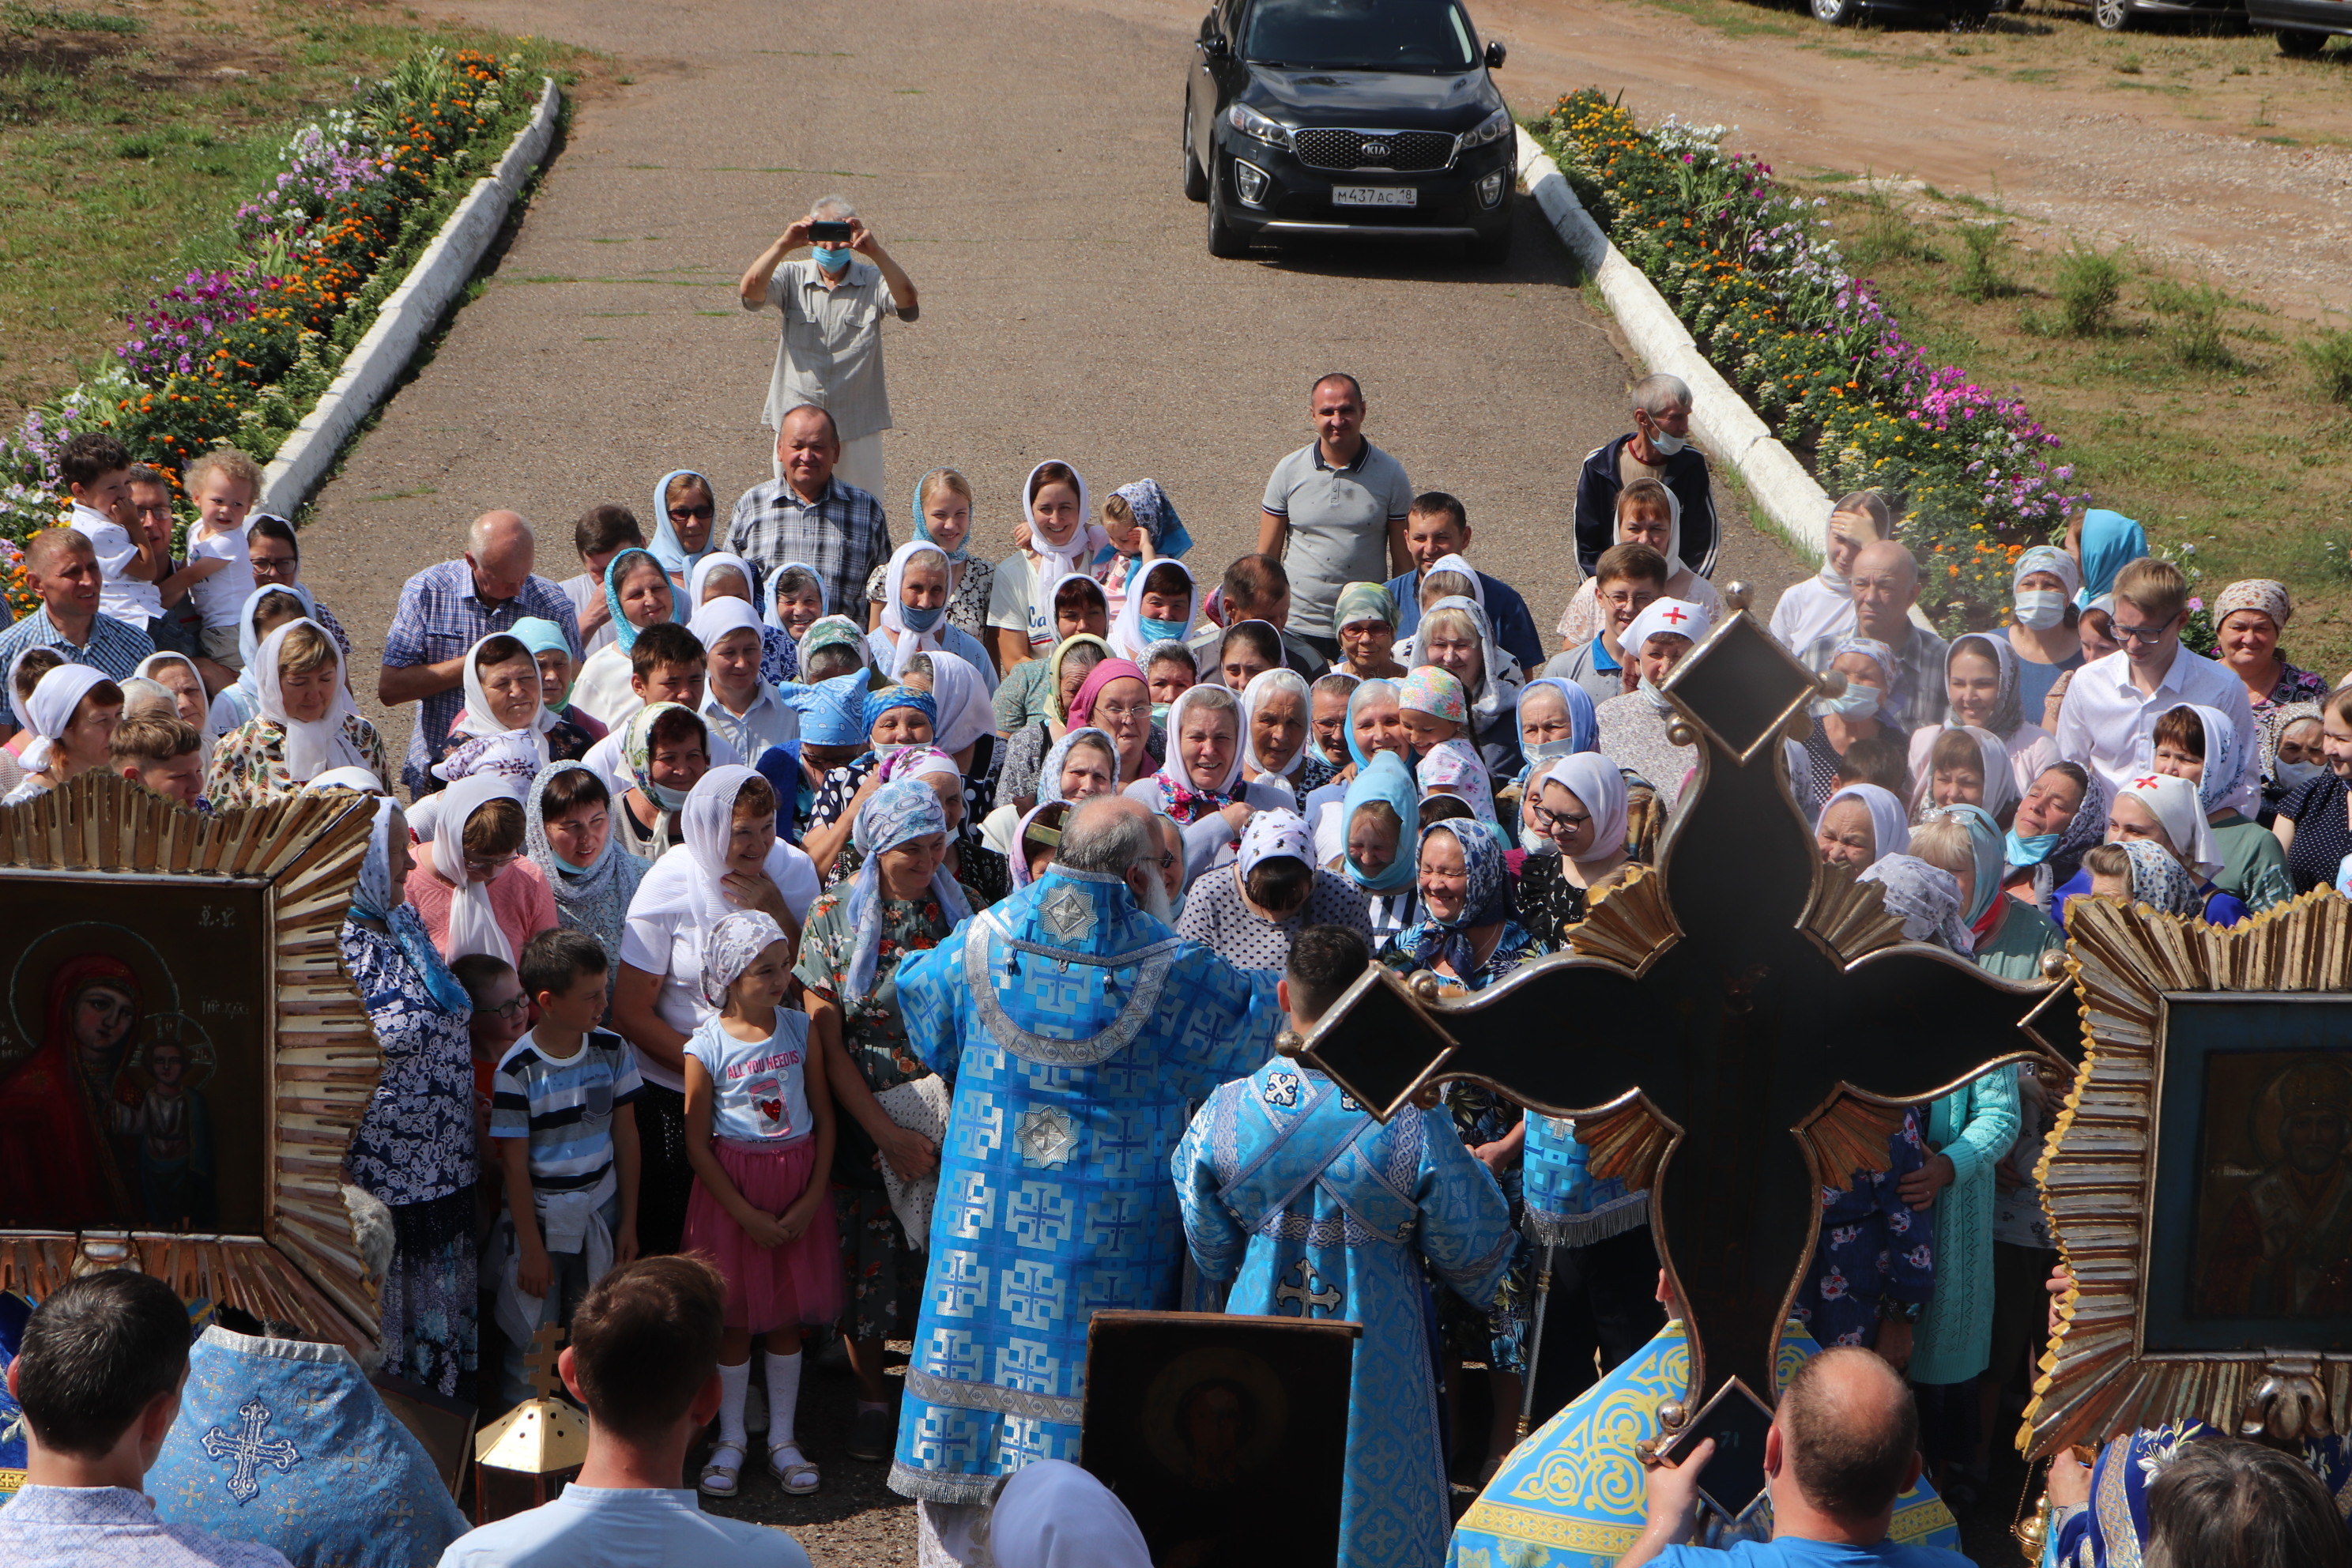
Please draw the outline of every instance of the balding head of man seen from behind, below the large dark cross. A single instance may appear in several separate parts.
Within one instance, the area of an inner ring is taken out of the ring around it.
[[[1919,1408],[1867,1349],[1844,1345],[1799,1366],[1773,1427],[1797,1490],[1835,1519],[1886,1514],[1919,1479]]]

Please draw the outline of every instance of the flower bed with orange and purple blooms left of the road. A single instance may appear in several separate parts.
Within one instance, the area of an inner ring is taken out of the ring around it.
[[[268,463],[536,101],[520,54],[423,49],[350,108],[301,127],[268,190],[235,212],[233,259],[132,313],[111,364],[0,437],[9,609],[33,604],[14,543],[59,520],[66,437],[108,430],[174,487],[207,447]]]

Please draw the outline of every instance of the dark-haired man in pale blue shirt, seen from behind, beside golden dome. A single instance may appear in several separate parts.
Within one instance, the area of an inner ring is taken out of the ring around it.
[[[588,1406],[588,1460],[546,1507],[487,1523],[440,1568],[809,1568],[783,1530],[703,1514],[687,1448],[720,1408],[727,1281],[701,1258],[640,1258],[600,1279],[555,1368]]]

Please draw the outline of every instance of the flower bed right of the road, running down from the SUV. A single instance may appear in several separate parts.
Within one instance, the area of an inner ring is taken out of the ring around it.
[[[1945,635],[2002,623],[2009,567],[2082,505],[2058,437],[1912,346],[1846,273],[1823,202],[1724,153],[1724,127],[1639,129],[1595,89],[1529,125],[1611,242],[1830,494],[1877,487]]]

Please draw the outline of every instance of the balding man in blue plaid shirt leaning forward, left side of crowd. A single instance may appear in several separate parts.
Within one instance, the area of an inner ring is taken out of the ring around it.
[[[386,708],[421,703],[409,755],[400,764],[409,795],[440,788],[428,769],[449,750],[449,726],[466,705],[466,649],[539,616],[564,628],[572,658],[581,658],[572,602],[532,571],[532,524],[520,512],[482,512],[466,543],[461,559],[426,567],[407,581],[383,632],[376,701]]]

